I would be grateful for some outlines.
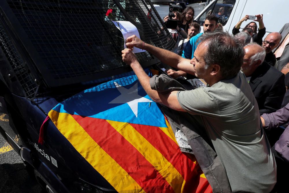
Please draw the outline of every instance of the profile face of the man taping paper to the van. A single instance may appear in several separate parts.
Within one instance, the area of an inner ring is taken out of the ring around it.
[[[205,69],[204,54],[207,51],[207,44],[200,43],[194,52],[194,57],[190,63],[194,66],[195,76],[198,78],[206,79],[210,74],[208,69]]]

